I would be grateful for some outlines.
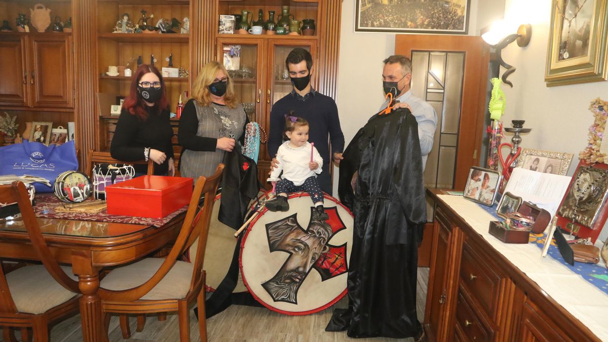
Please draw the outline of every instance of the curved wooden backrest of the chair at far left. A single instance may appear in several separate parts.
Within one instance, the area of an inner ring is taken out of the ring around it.
[[[23,218],[23,224],[27,229],[32,246],[38,257],[44,264],[44,267],[49,271],[50,275],[54,277],[61,286],[67,290],[78,292],[78,282],[71,279],[61,269],[59,263],[52,256],[49,250],[49,246],[46,245],[46,241],[38,226],[38,221],[34,215],[32,203],[30,202],[29,194],[27,194],[26,186],[19,182],[14,181],[12,184],[0,185],[0,203],[17,203],[19,211]],[[15,303],[10,296],[9,285],[6,282],[4,271],[0,267],[0,312],[16,312]]]

